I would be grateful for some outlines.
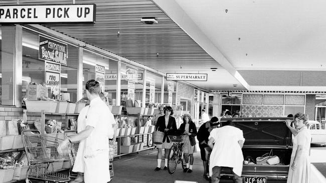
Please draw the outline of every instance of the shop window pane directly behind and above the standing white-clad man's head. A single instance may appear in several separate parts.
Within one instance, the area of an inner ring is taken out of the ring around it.
[[[86,96],[85,84],[88,80],[95,79],[99,82],[101,91],[105,89],[105,73],[109,70],[109,59],[94,53],[83,52],[83,96]],[[106,95],[107,96],[107,95]]]

